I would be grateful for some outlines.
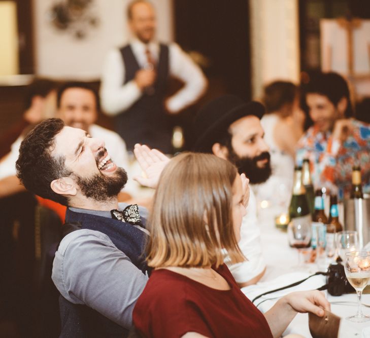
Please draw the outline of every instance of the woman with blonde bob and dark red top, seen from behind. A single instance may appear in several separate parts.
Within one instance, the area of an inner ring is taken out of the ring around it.
[[[248,203],[245,175],[210,154],[181,154],[163,169],[149,228],[154,270],[133,311],[142,337],[280,337],[297,312],[323,316],[319,291],[294,292],[262,314],[223,263],[238,247]]]

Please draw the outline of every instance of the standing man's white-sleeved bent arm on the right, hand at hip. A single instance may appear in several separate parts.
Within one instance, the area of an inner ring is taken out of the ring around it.
[[[185,83],[169,98],[167,109],[178,112],[196,101],[206,90],[207,80],[200,68],[176,45],[170,45],[170,73]]]

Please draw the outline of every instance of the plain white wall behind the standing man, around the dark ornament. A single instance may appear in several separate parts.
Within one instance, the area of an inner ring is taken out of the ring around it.
[[[126,6],[128,0],[94,0],[99,26],[91,28],[86,39],[76,40],[70,33],[57,30],[48,21],[50,0],[34,0],[36,73],[60,79],[93,80],[100,77],[107,51],[128,41]],[[158,18],[157,37],[173,39],[171,0],[153,0]]]

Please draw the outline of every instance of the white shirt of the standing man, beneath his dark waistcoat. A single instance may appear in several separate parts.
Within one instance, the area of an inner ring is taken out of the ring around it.
[[[145,68],[147,64],[145,54],[147,45],[138,39],[134,39],[130,46],[139,66]],[[151,42],[148,44],[148,48],[153,58],[158,61],[159,44]],[[169,68],[170,76],[184,82],[184,87],[167,101],[166,108],[176,113],[192,104],[204,93],[207,80],[200,68],[174,43],[169,45]],[[124,81],[125,67],[122,55],[119,49],[113,49],[108,53],[105,60],[100,88],[102,106],[107,115],[120,114],[143,95],[134,80],[123,85]]]

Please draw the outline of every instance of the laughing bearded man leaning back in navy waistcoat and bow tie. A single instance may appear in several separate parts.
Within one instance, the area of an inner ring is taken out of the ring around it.
[[[160,170],[150,166],[140,182],[154,187],[146,181],[159,177],[169,160],[155,149],[148,152],[157,154]],[[45,120],[27,134],[16,167],[27,190],[68,206],[70,224],[63,229],[76,227],[60,242],[53,262],[52,279],[61,294],[60,337],[127,336],[148,279],[143,253],[148,232],[137,205],[118,203],[125,170],[112,161],[103,140],[60,119]]]

